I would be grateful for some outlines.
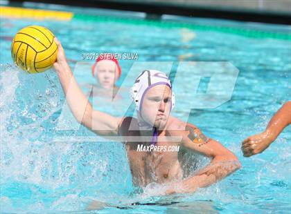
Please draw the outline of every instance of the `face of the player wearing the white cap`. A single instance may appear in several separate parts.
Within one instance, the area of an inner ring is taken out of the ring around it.
[[[148,124],[159,129],[166,127],[172,105],[172,91],[166,85],[157,85],[148,90],[143,98],[142,117]]]

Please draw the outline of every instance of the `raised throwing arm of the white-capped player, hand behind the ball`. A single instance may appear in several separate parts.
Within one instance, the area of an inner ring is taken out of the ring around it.
[[[73,77],[73,72],[71,72],[71,68],[67,64],[62,44],[58,39],[55,39],[55,43],[58,45],[58,58],[53,66],[58,73],[67,103],[74,117],[80,124],[93,130],[98,135],[117,135],[118,124],[121,118],[112,117],[98,110],[93,110],[89,100],[85,94],[82,93],[75,77]]]

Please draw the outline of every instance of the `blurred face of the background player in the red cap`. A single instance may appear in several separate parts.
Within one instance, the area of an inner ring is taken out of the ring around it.
[[[114,61],[102,60],[97,66],[97,80],[103,88],[113,88],[117,79],[117,67]]]

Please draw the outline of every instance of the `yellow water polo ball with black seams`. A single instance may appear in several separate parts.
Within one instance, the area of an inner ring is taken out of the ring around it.
[[[12,59],[28,73],[44,72],[57,59],[55,36],[42,26],[28,26],[17,32],[11,44]]]

